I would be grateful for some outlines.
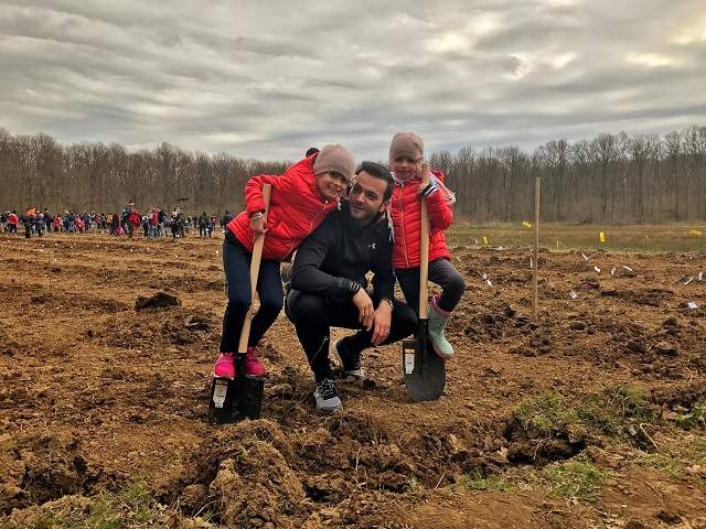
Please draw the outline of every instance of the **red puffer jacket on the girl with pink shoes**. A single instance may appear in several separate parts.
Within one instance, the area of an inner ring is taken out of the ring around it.
[[[287,260],[301,241],[319,227],[336,207],[335,201],[324,201],[317,187],[313,162],[318,154],[291,165],[280,176],[259,174],[245,184],[246,210],[231,220],[227,228],[253,251],[253,230],[249,216],[265,210],[263,185],[272,184],[267,214],[267,234],[263,259]]]

